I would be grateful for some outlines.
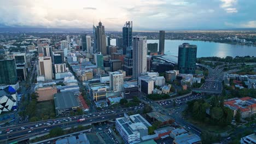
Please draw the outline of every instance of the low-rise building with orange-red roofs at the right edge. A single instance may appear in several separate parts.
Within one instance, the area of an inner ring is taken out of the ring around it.
[[[256,99],[250,97],[232,98],[224,101],[224,106],[229,107],[234,113],[234,117],[238,110],[241,111],[241,117],[251,117],[256,113]]]

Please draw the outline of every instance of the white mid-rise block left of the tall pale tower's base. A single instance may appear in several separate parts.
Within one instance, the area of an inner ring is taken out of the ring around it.
[[[109,73],[109,86],[114,92],[123,92],[124,76],[119,71]]]

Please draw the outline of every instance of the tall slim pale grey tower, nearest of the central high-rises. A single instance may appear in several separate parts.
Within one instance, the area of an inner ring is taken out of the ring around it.
[[[147,72],[147,37],[132,38],[132,77],[138,79],[141,73]]]

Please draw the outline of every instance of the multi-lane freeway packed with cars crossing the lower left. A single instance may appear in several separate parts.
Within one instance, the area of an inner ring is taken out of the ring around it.
[[[98,123],[103,121],[109,121],[111,119],[115,119],[117,117],[123,116],[124,112],[138,112],[143,109],[143,105],[139,108],[136,107],[129,107],[121,110],[112,110],[112,111],[104,111],[104,112],[97,112],[97,113],[90,113],[88,115],[80,115],[80,116],[73,116],[73,117],[66,117],[66,118],[58,118],[58,119],[51,119],[48,121],[41,121],[35,123],[28,123],[26,125],[15,125],[14,127],[3,127],[0,130],[2,134],[0,135],[0,143],[6,140],[16,140],[16,139],[24,139],[23,136],[31,137],[34,135],[39,135],[43,133],[48,133],[50,129],[55,127],[72,127],[75,125],[80,124],[91,124],[91,123]],[[97,114],[97,115],[96,115]],[[78,119],[85,118],[84,121],[78,122]]]

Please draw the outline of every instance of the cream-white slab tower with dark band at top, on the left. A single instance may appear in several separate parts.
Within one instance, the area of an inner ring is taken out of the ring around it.
[[[44,75],[44,79],[52,80],[53,79],[53,67],[51,64],[51,57],[38,57],[38,72],[39,75]]]

